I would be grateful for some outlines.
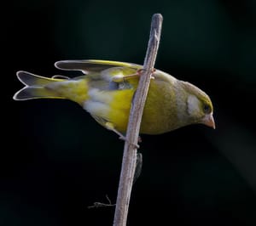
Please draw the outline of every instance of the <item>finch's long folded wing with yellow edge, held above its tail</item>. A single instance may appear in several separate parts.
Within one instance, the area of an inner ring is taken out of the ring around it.
[[[55,62],[55,67],[58,69],[67,71],[83,71],[84,74],[88,74],[89,72],[100,72],[117,66],[135,70],[143,68],[142,65],[101,59],[61,60]]]

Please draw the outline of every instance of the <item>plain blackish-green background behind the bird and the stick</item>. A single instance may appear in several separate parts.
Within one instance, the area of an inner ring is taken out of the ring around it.
[[[128,225],[256,225],[256,3],[251,0],[13,1],[2,6],[0,225],[112,225],[123,142],[68,100],[15,102],[15,71],[62,74],[61,59],[143,64],[151,16],[164,17],[155,67],[212,98],[216,130],[143,135]]]

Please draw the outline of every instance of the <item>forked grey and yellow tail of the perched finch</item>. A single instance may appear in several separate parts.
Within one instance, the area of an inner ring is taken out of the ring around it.
[[[65,79],[49,78],[44,76],[37,76],[27,71],[18,71],[17,77],[22,82],[25,87],[20,89],[14,95],[15,100],[26,100],[26,99],[63,99],[60,94],[56,93],[54,90],[47,88],[49,83],[62,82]]]

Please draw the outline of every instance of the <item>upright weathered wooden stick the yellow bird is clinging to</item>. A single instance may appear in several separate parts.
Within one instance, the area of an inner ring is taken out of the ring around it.
[[[143,65],[143,74],[140,77],[137,91],[131,105],[113,226],[126,225],[132,182],[136,168],[138,135],[143,116],[143,108],[147,99],[149,82],[154,71],[154,62],[160,43],[162,20],[163,17],[161,14],[154,14],[152,17],[148,49]]]

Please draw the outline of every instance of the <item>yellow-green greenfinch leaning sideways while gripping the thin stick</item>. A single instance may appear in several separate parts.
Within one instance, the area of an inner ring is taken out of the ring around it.
[[[25,87],[15,93],[14,99],[70,99],[103,127],[125,133],[142,65],[89,59],[58,61],[55,67],[82,71],[83,75],[49,78],[18,71],[18,79]],[[166,72],[152,73],[140,133],[166,133],[195,123],[215,128],[212,101],[207,93]]]

